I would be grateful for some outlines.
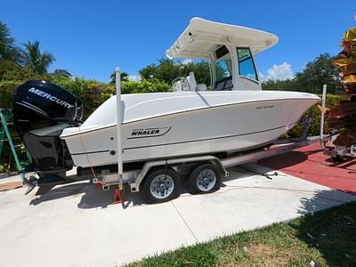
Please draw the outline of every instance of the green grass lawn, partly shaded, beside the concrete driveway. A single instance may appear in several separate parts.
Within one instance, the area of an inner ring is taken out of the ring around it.
[[[356,266],[356,202],[127,266]]]

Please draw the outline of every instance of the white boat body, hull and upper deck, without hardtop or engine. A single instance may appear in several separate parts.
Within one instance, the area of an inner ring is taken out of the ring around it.
[[[224,91],[126,94],[123,162],[249,150],[291,129],[318,99],[309,93]],[[115,164],[116,97],[63,130],[76,166]]]

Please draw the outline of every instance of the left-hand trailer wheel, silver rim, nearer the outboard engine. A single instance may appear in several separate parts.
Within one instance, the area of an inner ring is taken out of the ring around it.
[[[142,185],[143,198],[148,203],[160,203],[179,196],[180,179],[174,169],[159,168],[147,176]]]

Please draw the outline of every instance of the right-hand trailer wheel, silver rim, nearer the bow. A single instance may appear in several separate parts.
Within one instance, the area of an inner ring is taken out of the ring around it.
[[[188,185],[191,194],[212,192],[220,188],[221,174],[214,164],[206,163],[196,167],[190,174]]]

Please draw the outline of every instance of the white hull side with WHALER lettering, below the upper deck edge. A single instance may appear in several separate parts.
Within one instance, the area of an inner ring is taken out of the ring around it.
[[[249,150],[287,133],[317,98],[230,102],[124,122],[123,162]],[[76,166],[117,163],[117,127],[61,136]]]

